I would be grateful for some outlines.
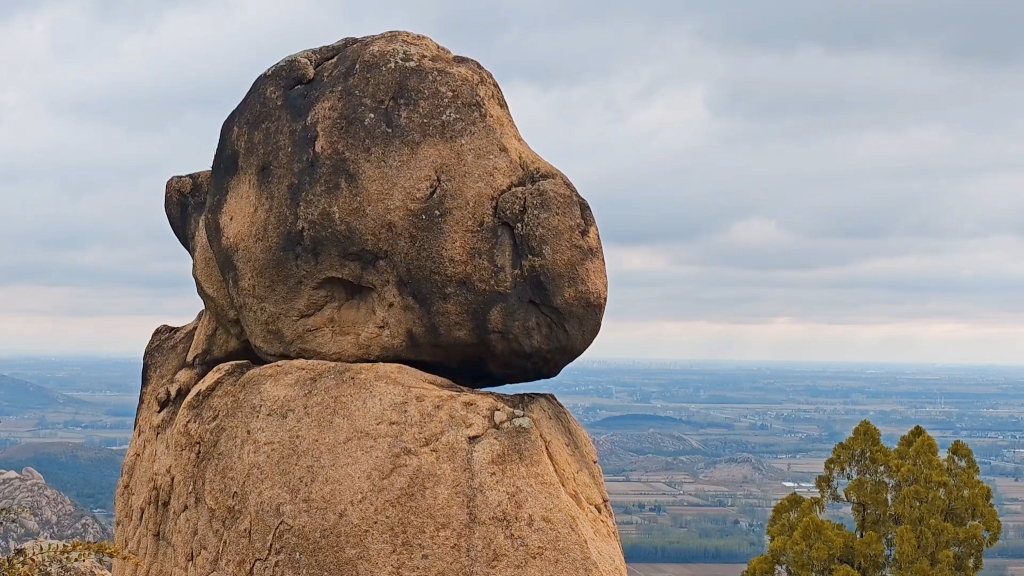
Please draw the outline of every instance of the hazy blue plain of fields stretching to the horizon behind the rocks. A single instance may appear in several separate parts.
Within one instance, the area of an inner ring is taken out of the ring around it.
[[[109,508],[140,372],[132,359],[0,359],[0,461],[67,465],[54,480]],[[919,423],[941,448],[968,442],[1004,520],[986,573],[1024,576],[1024,367],[591,361],[496,392],[554,394],[587,428],[634,576],[738,574],[763,550],[771,506],[813,494],[865,418],[890,444]]]

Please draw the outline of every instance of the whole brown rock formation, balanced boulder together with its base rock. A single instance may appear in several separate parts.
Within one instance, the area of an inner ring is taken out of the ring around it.
[[[206,307],[145,352],[115,574],[625,575],[548,395],[600,328],[586,201],[423,36],[285,58],[171,178]]]

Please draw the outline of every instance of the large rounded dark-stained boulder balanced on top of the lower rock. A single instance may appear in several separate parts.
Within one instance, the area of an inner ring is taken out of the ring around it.
[[[285,58],[167,186],[206,315],[189,359],[393,362],[471,387],[551,377],[606,299],[597,225],[490,74],[423,36]]]

